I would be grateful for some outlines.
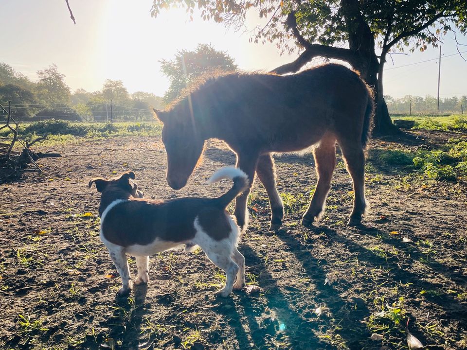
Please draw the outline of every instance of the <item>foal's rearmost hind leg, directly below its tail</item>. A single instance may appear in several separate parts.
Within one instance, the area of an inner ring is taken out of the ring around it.
[[[348,225],[360,225],[362,216],[367,209],[365,198],[365,153],[360,142],[350,142],[348,140],[338,140],[341,146],[342,156],[348,173],[352,177],[354,188],[354,207],[350,214]]]

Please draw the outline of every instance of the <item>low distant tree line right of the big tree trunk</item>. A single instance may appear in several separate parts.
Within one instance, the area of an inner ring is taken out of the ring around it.
[[[407,95],[401,98],[385,96],[389,113],[392,114],[436,114],[437,99],[427,95],[425,97]],[[467,96],[456,96],[439,99],[439,113],[460,114],[461,105],[464,113],[467,108]]]

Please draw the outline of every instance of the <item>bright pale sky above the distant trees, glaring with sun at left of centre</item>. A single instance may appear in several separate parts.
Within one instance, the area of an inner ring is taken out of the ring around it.
[[[76,18],[73,25],[64,0],[2,0],[0,62],[33,80],[36,70],[54,63],[72,91],[95,91],[106,79],[120,79],[129,92],[162,96],[169,82],[160,72],[159,61],[173,58],[177,50],[194,49],[198,43],[226,51],[243,70],[271,70],[296,58],[280,56],[273,44],[252,44],[249,33],[204,22],[196,14],[189,22],[183,9],[164,10],[151,18],[151,5],[152,0],[70,0]],[[252,14],[247,29],[257,21]],[[460,40],[467,44],[465,36]],[[393,55],[394,66],[390,59],[386,64],[384,93],[435,96],[438,60],[417,62],[437,58],[438,50]],[[467,58],[467,46],[460,46],[460,51]],[[453,37],[445,38],[442,53],[456,53]],[[458,54],[441,61],[440,95],[467,95],[467,62]]]

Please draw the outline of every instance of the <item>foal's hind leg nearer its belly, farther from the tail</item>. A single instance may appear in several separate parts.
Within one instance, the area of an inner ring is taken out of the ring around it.
[[[313,150],[318,183],[311,198],[311,203],[302,219],[303,226],[312,225],[324,212],[327,193],[331,188],[331,177],[336,168],[336,138],[323,137],[318,147]]]

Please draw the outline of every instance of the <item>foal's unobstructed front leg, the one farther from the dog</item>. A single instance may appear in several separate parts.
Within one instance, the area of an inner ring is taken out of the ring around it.
[[[269,228],[277,230],[282,226],[282,220],[284,219],[284,205],[279,192],[277,192],[274,159],[270,154],[259,157],[256,165],[256,175],[258,175],[266,192],[268,192],[272,212],[271,226]]]

